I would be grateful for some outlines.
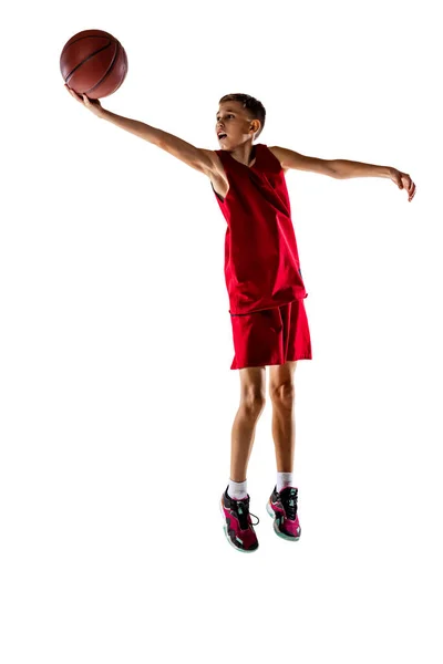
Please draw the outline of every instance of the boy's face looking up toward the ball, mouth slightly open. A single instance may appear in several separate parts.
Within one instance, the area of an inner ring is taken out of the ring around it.
[[[216,134],[223,149],[234,149],[254,138],[260,123],[251,120],[241,102],[223,102],[216,116]],[[219,135],[224,134],[220,138]]]

